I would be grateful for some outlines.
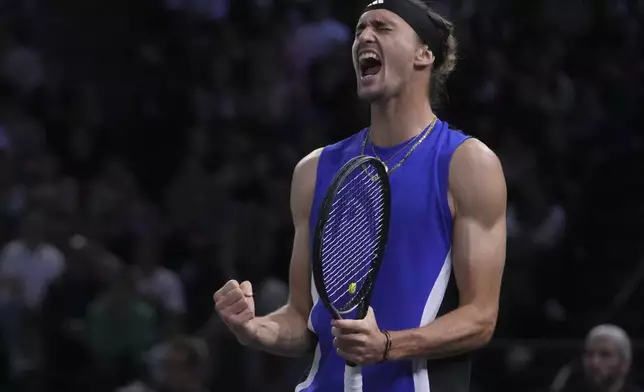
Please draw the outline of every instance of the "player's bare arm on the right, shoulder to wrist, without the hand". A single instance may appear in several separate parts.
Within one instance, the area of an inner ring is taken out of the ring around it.
[[[496,155],[476,139],[465,141],[452,157],[449,174],[459,307],[426,326],[391,331],[389,359],[448,357],[489,342],[505,264],[506,192]]]

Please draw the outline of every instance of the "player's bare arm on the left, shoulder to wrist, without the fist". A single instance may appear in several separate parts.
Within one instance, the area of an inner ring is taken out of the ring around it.
[[[279,310],[256,319],[257,335],[249,346],[275,355],[299,357],[311,347],[312,333],[307,322],[313,299],[311,298],[311,272],[309,262],[309,216],[318,158],[321,149],[315,150],[295,167],[291,184],[291,214],[295,238],[290,266],[290,293],[286,305]]]

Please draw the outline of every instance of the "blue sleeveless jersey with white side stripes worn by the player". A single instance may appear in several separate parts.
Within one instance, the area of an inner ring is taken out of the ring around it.
[[[327,146],[320,155],[310,217],[311,243],[331,180],[342,165],[361,153],[366,132]],[[434,130],[391,173],[389,241],[371,299],[382,329],[417,328],[458,305],[451,268],[452,215],[447,194],[451,157],[467,138],[438,120]],[[388,162],[392,167],[411,147],[398,153],[403,146],[405,143],[374,149],[383,161],[392,158]],[[371,147],[365,154],[373,155]],[[318,301],[313,281],[311,295],[314,305],[309,328],[317,335],[318,345],[306,379],[295,390],[341,392],[345,362],[333,347],[331,315]],[[470,358],[387,362],[362,367],[362,376],[365,392],[467,392]]]

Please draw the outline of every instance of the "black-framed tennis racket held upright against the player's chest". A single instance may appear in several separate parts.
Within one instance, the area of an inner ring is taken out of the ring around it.
[[[369,309],[387,245],[391,196],[385,165],[360,155],[335,175],[313,239],[313,279],[319,298],[335,319]],[[360,366],[347,362],[345,392],[362,391]]]

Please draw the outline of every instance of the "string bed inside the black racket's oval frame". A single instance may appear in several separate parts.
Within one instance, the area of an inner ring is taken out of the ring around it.
[[[340,311],[359,303],[371,285],[368,277],[383,235],[383,186],[377,171],[363,165],[354,173],[336,193],[322,244],[327,296]]]

